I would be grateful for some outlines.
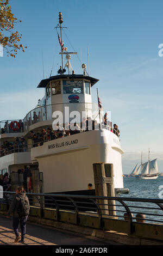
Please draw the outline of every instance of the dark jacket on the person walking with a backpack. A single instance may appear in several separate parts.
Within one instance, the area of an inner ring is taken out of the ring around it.
[[[12,202],[10,204],[10,208],[9,208],[9,211],[7,213],[7,216],[9,216],[10,214],[12,214],[13,212],[13,217],[18,217],[18,212],[17,212],[17,209],[18,209],[18,206],[19,206],[19,200],[20,200],[20,197],[26,197],[27,199],[27,202],[28,202],[28,205],[29,205],[29,200],[28,200],[28,197],[26,196],[26,192],[20,192],[18,194],[16,194],[13,199],[12,199]]]

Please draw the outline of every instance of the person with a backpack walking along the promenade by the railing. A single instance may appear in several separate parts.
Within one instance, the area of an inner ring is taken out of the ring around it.
[[[26,191],[24,188],[19,186],[16,188],[16,195],[13,197],[9,211],[7,213],[7,218],[9,214],[13,213],[13,229],[16,235],[15,243],[20,241],[24,243],[24,237],[26,235],[26,222],[29,215],[29,200],[26,196]],[[18,224],[20,222],[21,226],[21,236],[18,234]]]

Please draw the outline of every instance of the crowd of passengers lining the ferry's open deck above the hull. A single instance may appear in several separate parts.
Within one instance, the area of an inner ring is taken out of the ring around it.
[[[81,126],[79,126],[77,123],[74,123],[71,126],[69,123],[66,123],[64,127],[62,127],[59,124],[57,124],[56,126],[53,126],[53,130],[50,127],[48,127],[47,131],[45,129],[42,129],[41,133],[35,133],[34,131],[30,131],[30,138],[32,139],[33,147],[37,147],[38,145],[42,145],[43,142],[52,141],[53,139],[63,138],[84,131],[86,132],[90,130],[99,129],[99,124],[97,123],[97,121],[92,120],[90,117],[83,118],[83,122],[80,125]],[[107,121],[106,113],[102,125],[109,126],[109,130],[115,133],[115,135],[117,135],[118,137],[120,137],[120,130],[118,130],[118,126],[114,124],[114,127],[112,128],[112,123],[110,121]],[[24,137],[21,137],[21,139],[16,138],[15,142],[5,141],[4,144],[1,145],[0,157],[12,153],[26,151],[26,139]]]

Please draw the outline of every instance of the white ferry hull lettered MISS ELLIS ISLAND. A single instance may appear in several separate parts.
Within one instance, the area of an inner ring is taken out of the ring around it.
[[[32,161],[39,162],[44,193],[89,194],[95,191],[93,163],[99,162],[113,164],[115,188],[123,191],[122,154],[114,133],[94,130],[43,143],[32,149]]]

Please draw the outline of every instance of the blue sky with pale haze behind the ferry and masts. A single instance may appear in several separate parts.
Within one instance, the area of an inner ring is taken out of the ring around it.
[[[163,44],[162,0],[10,0],[12,13],[22,20],[16,25],[22,34],[25,53],[16,59],[0,57],[1,120],[21,119],[33,109],[44,90],[36,88],[44,77],[57,75],[60,65],[55,26],[58,13],[65,46],[77,51],[72,66],[81,74],[89,47],[90,76],[99,79],[96,88],[105,111],[121,132],[123,172],[130,173],[140,162],[158,157],[163,172]],[[42,68],[43,58],[43,68]],[[80,59],[80,61],[79,61]],[[87,65],[88,66],[88,65]]]

